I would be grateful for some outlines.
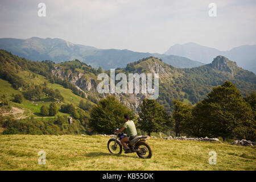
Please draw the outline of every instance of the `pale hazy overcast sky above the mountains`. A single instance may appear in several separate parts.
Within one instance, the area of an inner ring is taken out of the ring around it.
[[[38,4],[46,4],[46,17]],[[210,17],[209,3],[217,16]],[[60,38],[97,48],[164,53],[195,42],[229,50],[256,44],[255,0],[0,0],[0,37]]]

